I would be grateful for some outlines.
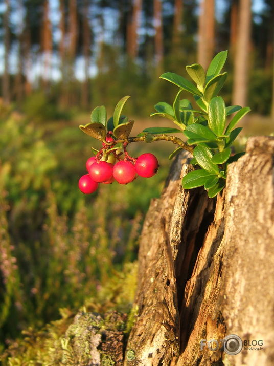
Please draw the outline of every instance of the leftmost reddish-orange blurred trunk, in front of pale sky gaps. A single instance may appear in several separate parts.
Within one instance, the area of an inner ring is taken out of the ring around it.
[[[43,23],[41,30],[41,50],[43,53],[42,85],[45,92],[49,92],[51,54],[52,54],[52,32],[50,22],[50,4],[48,0],[43,3]]]

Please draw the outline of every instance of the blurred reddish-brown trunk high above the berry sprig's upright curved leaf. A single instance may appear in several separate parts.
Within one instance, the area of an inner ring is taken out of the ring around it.
[[[131,15],[127,24],[127,54],[131,60],[138,56],[138,29],[142,12],[142,0],[133,0]]]

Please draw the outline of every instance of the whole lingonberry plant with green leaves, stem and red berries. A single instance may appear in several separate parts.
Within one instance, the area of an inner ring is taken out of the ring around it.
[[[86,162],[88,174],[80,178],[80,190],[91,193],[96,190],[98,182],[110,184],[116,180],[127,184],[138,175],[152,177],[158,169],[156,157],[147,153],[133,158],[128,154],[127,146],[132,142],[166,140],[178,145],[169,159],[185,149],[193,154],[191,163],[198,165],[196,170],[184,177],[183,187],[204,186],[209,197],[216,196],[225,186],[227,165],[244,154],[232,155],[231,145],[242,130],[242,127],[234,127],[250,111],[249,107],[225,106],[222,97],[218,96],[226,79],[226,72],[221,73],[226,57],[227,51],[218,53],[207,72],[198,63],[187,66],[187,73],[196,85],[175,73],[167,72],[160,76],[175,84],[179,90],[173,105],[159,102],[154,105],[156,112],[150,116],[168,118],[176,124],[176,128],[149,127],[139,135],[129,137],[134,121],[122,115],[128,95],[117,103],[113,117],[108,120],[105,106],[96,107],[91,114],[91,122],[80,125],[80,128],[87,135],[101,140],[102,148],[93,148],[96,155]],[[188,99],[180,99],[182,91],[193,95],[196,108]],[[227,116],[233,113],[235,115],[227,123]],[[187,141],[171,136],[173,133],[182,133]]]

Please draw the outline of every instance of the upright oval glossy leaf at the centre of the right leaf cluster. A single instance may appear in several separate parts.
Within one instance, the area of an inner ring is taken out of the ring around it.
[[[210,101],[208,113],[209,127],[217,136],[221,136],[225,126],[225,104],[221,97]]]

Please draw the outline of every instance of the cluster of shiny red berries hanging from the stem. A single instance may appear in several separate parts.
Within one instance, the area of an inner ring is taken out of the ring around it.
[[[106,161],[100,160],[100,154],[97,154],[86,161],[88,174],[79,179],[78,186],[83,193],[93,193],[98,188],[98,183],[111,184],[117,181],[127,184],[138,176],[150,178],[157,173],[158,166],[157,158],[150,153],[134,159],[125,152],[123,160],[119,155],[110,153]]]

